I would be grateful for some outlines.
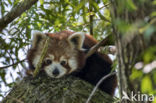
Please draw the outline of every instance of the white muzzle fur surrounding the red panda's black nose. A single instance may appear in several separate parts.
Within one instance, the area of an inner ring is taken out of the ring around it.
[[[55,69],[58,69],[59,71],[59,74],[57,76],[53,75],[53,71]],[[66,74],[67,69],[60,65],[59,62],[53,62],[51,65],[45,67],[45,72],[52,78],[60,78]]]

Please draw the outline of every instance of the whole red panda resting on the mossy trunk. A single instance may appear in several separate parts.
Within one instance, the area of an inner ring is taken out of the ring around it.
[[[95,52],[87,59],[85,58],[87,51],[97,41],[90,35],[71,31],[33,32],[32,47],[27,54],[31,70],[34,70],[39,62],[46,36],[50,37],[50,41],[42,63],[42,70],[48,76],[61,78],[65,75],[73,75],[96,85],[103,76],[111,72],[112,61],[107,55]],[[103,81],[99,88],[113,95],[116,84],[116,75],[114,75]]]

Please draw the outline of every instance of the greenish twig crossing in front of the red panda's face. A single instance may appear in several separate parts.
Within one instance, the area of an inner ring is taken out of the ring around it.
[[[37,64],[37,67],[35,68],[35,71],[33,73],[33,76],[36,77],[36,75],[39,73],[40,71],[40,68],[41,68],[41,65],[42,65],[42,61],[47,53],[47,50],[48,50],[48,44],[49,44],[49,37],[47,37],[46,41],[45,41],[45,44],[44,44],[44,47],[43,47],[43,50],[42,50],[42,53],[41,53],[41,57],[40,57],[40,60]]]

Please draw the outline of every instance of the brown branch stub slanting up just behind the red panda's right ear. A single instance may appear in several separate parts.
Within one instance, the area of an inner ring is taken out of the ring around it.
[[[94,54],[99,48],[100,46],[103,46],[106,44],[107,40],[108,40],[107,36],[105,39],[103,39],[102,41],[98,42],[97,44],[95,44],[93,47],[90,48],[90,50],[88,51],[88,53],[86,54],[86,58],[90,57],[92,54]]]

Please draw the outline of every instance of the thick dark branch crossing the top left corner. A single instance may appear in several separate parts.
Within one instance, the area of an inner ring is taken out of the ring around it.
[[[15,18],[20,16],[24,11],[31,8],[38,0],[24,0],[20,2],[17,6],[12,8],[12,10],[7,13],[4,17],[0,19],[0,32]]]

